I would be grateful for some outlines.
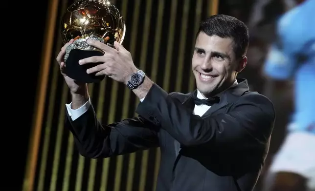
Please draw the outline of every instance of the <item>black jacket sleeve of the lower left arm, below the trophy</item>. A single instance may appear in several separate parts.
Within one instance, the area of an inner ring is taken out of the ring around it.
[[[65,127],[73,134],[82,156],[110,157],[158,147],[158,129],[141,116],[101,125],[93,106],[75,120],[66,112]]]

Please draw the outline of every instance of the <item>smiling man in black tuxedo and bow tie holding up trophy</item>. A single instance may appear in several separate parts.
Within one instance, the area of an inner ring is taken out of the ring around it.
[[[63,73],[66,44],[57,57],[72,95],[65,125],[83,156],[110,157],[159,147],[157,191],[253,189],[275,116],[267,97],[249,92],[247,80],[236,80],[247,63],[248,29],[243,22],[216,15],[201,23],[192,57],[198,89],[189,94],[167,94],[135,67],[122,45],[115,43],[112,49],[88,43],[105,54],[79,61],[103,62],[87,73],[127,84],[141,102],[139,116],[101,125],[87,86]]]

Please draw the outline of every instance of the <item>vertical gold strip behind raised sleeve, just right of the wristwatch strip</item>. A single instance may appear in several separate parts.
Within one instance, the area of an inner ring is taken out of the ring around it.
[[[153,50],[153,59],[152,59],[152,72],[151,78],[157,79],[158,74],[158,57],[159,57],[159,48],[161,42],[161,33],[163,26],[163,12],[164,12],[164,3],[165,0],[159,0],[158,2],[158,19],[156,23],[156,35],[154,39],[154,50]],[[160,149],[156,149],[156,161],[154,166],[154,177],[153,177],[153,191],[157,187],[157,178],[158,178],[158,169],[160,163]]]

